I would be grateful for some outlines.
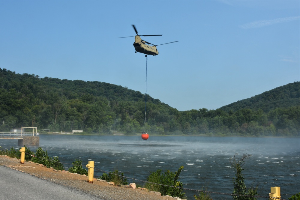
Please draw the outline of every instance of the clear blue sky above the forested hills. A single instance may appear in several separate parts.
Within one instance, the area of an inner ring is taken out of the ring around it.
[[[158,46],[147,94],[218,109],[300,81],[300,1],[0,1],[0,68],[145,93],[135,24]]]

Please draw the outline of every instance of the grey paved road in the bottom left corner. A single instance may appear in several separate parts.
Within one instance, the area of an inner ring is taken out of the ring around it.
[[[0,199],[104,200],[4,166],[0,166]]]

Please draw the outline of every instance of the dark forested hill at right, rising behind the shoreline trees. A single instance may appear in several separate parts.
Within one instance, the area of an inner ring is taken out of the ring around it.
[[[276,108],[289,108],[300,105],[300,82],[293,82],[273,90],[255,95],[254,97],[231,103],[220,109],[237,111],[239,109],[262,109],[264,112]]]

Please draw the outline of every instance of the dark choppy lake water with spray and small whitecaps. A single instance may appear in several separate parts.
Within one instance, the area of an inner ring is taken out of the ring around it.
[[[0,139],[2,148],[19,148],[17,143]],[[140,136],[40,135],[40,147],[50,157],[58,156],[62,163],[80,159],[85,166],[91,160],[95,161],[96,169],[107,172],[118,169],[127,177],[143,181],[157,169],[176,172],[184,166],[179,176],[184,188],[229,194],[235,177],[229,159],[236,153],[238,158],[251,154],[243,170],[247,187],[258,182],[262,188],[260,196],[268,196],[270,187],[280,187],[283,199],[300,192],[300,138],[150,135],[148,140],[142,140]],[[64,166],[66,170],[72,167]],[[94,177],[99,178],[103,172],[96,169]],[[128,182],[144,184],[130,179]],[[197,194],[191,190],[185,192],[189,200]],[[232,199],[220,194],[211,197]]]

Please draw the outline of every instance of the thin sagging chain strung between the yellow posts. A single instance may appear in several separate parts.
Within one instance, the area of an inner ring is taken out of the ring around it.
[[[25,153],[25,154],[28,154],[28,153]],[[31,154],[29,154],[29,155],[31,155]],[[66,165],[73,165],[73,166],[82,167],[82,165],[74,165],[74,164],[70,164],[70,163],[62,163],[62,162],[58,162],[58,161],[55,161],[55,160],[49,160],[49,159],[41,158],[41,157],[38,157],[38,156],[35,156],[35,155],[31,155],[31,156],[32,157],[37,157],[39,159],[43,159],[43,160],[48,160],[48,161],[51,161],[51,162],[55,162],[55,163],[61,163],[61,164],[66,164]],[[136,178],[127,177],[127,176],[122,176],[122,175],[119,175],[119,174],[114,174],[114,173],[107,172],[107,171],[104,171],[104,170],[101,170],[101,169],[97,169],[97,168],[94,168],[94,170],[98,170],[98,171],[101,171],[101,172],[104,172],[104,173],[107,173],[107,174],[112,174],[112,175],[116,175],[116,176],[123,177],[123,178],[128,178],[128,179],[135,180],[135,181],[140,181],[140,182],[149,183],[149,184],[155,184],[155,185],[161,185],[161,186],[167,186],[167,187],[173,187],[173,188],[179,188],[179,189],[182,189],[182,190],[190,190],[190,191],[195,191],[195,192],[212,193],[212,194],[222,194],[222,195],[229,195],[229,196],[244,196],[244,197],[254,197],[254,198],[270,198],[269,196],[251,196],[251,195],[241,195],[241,194],[229,194],[229,193],[211,192],[211,191],[206,191],[206,190],[195,190],[195,189],[189,189],[189,188],[183,188],[183,187],[175,187],[175,186],[163,185],[163,184],[159,184],[159,183],[152,183],[152,182],[149,182],[149,181],[143,181],[143,180],[139,180],[139,179],[136,179]],[[286,199],[281,199],[281,198],[276,198],[276,197],[272,197],[272,198],[273,199],[286,200]]]

